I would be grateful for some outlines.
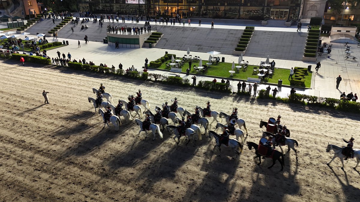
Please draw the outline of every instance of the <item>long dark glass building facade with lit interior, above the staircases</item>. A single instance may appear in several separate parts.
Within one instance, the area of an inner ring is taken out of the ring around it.
[[[297,20],[303,0],[77,0],[90,13]]]

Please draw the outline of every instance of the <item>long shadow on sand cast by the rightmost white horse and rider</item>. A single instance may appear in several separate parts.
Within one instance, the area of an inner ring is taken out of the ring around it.
[[[339,174],[337,174],[335,172],[335,170],[331,166],[328,165],[328,167],[330,168],[330,170],[332,171],[332,173],[336,177],[337,181],[341,185],[344,197],[346,197],[346,199],[339,198],[338,194],[332,194],[332,197],[336,198],[336,200],[334,200],[334,201],[345,201],[345,200],[346,201],[359,201],[360,190],[359,190],[359,188],[356,188],[356,187],[354,187],[353,185],[351,185],[349,183],[346,171],[345,170],[339,170],[340,172],[344,172],[344,177],[345,177],[345,179],[340,179]],[[357,170],[355,170],[355,171],[360,175],[359,171],[357,171]],[[354,177],[354,176],[352,176],[352,177]],[[345,182],[344,182],[344,180],[345,180]]]

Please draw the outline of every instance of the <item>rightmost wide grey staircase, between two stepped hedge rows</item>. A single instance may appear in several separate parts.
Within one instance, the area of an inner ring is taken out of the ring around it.
[[[307,32],[255,30],[245,56],[283,60],[302,60]]]

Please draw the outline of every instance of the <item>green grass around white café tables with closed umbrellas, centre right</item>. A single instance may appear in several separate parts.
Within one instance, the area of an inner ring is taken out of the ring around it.
[[[165,61],[165,63],[171,63],[171,60],[167,60]],[[203,60],[202,64],[206,64],[208,61]],[[168,69],[170,70],[170,68],[166,68],[165,63],[163,63],[161,66],[158,67],[158,69]],[[199,66],[199,62],[192,62],[192,66]],[[218,65],[211,65],[211,67],[208,69],[207,73],[204,75],[210,75],[210,76],[214,76],[214,77],[226,77],[226,78],[235,78],[235,79],[244,79],[247,80],[248,77],[250,78],[258,78],[258,76],[256,74],[253,74],[253,69],[254,67],[258,66],[254,66],[254,65],[249,65],[247,71],[243,71],[240,70],[240,72],[235,70],[234,76],[230,77],[230,73],[229,71],[231,70],[231,65],[232,63],[219,63]],[[238,64],[235,63],[235,66],[237,66]],[[186,62],[184,63],[184,66],[182,68],[182,72],[186,72],[186,69],[189,67],[189,64]],[[197,73],[196,71],[194,71],[193,68],[191,68],[192,70],[190,71],[190,73]],[[235,68],[236,69],[236,68]],[[269,78],[269,81],[266,80],[262,80],[261,82],[264,83],[278,83],[279,79],[283,80],[283,84],[284,85],[290,85],[290,81],[288,80],[289,78],[289,74],[290,74],[290,70],[289,69],[281,69],[281,68],[275,68],[274,74],[272,78]],[[305,76],[305,87],[310,88],[310,84],[311,84],[311,75],[312,73],[308,72],[308,75]]]

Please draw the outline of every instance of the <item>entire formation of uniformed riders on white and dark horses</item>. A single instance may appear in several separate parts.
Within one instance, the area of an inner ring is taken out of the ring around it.
[[[129,124],[132,119],[131,112],[135,111],[135,116],[139,116],[139,119],[135,119],[135,123],[140,127],[138,135],[144,131],[147,137],[148,131],[151,131],[154,136],[153,140],[156,139],[157,135],[160,139],[163,139],[162,132],[167,129],[167,131],[172,131],[175,134],[174,141],[177,144],[180,143],[180,138],[185,136],[187,140],[186,145],[192,140],[195,146],[196,141],[202,140],[201,127],[205,129],[204,134],[207,134],[207,131],[210,129],[207,118],[212,117],[213,120],[210,125],[213,121],[216,121],[215,131],[222,129],[222,133],[218,134],[213,130],[209,130],[208,137],[215,138],[216,144],[214,148],[218,147],[220,152],[221,147],[230,147],[235,152],[234,158],[236,158],[243,150],[244,132],[241,129],[242,127],[246,130],[246,137],[248,136],[245,120],[240,119],[237,116],[237,107],[233,108],[233,112],[230,115],[222,111],[218,113],[211,110],[210,101],[208,101],[206,107],[204,108],[196,106],[195,111],[192,114],[183,107],[179,107],[178,100],[175,97],[174,100],[171,100],[173,102],[172,105],[168,106],[168,103],[165,102],[161,107],[156,106],[155,113],[153,113],[150,110],[149,102],[142,98],[140,89],[136,92],[136,97],[129,95],[127,97],[128,101],[118,100],[117,106],[111,104],[113,101],[112,95],[105,92],[105,86],[103,86],[102,83],[100,84],[99,89],[93,88],[93,93],[96,94],[96,98],[88,97],[88,101],[93,102],[95,113],[96,109],[99,108],[98,113],[102,115],[104,122],[103,128],[105,128],[106,125],[110,128],[108,123],[111,122],[115,126],[116,130],[118,130],[122,124],[120,117],[123,116],[126,124]],[[103,97],[106,98],[107,101],[103,101]],[[144,111],[141,106],[145,108]],[[105,108],[106,112],[104,112],[102,108]],[[179,113],[181,119],[177,117],[177,113]],[[145,114],[145,119],[144,121],[141,121],[140,119],[143,114]],[[220,119],[225,118],[226,124],[220,123],[217,119],[218,117]],[[168,119],[170,119],[174,125],[169,125]],[[280,119],[281,116],[279,115],[276,120],[275,118],[269,118],[267,122],[261,120],[260,128],[265,127],[266,130],[262,132],[259,143],[246,143],[249,150],[255,149],[256,156],[254,158],[258,158],[258,165],[261,164],[261,157],[268,157],[273,159],[273,164],[268,168],[273,167],[277,160],[280,162],[282,167],[281,170],[283,170],[284,156],[289,153],[290,149],[295,152],[297,158],[297,150],[294,147],[298,146],[298,142],[295,139],[290,138],[290,130],[285,125],[280,124]],[[162,131],[157,124],[161,126]],[[198,125],[200,125],[200,127]],[[238,128],[235,128],[235,125],[238,125]],[[235,136],[236,139],[230,138],[230,136]],[[326,151],[329,152],[330,150],[333,150],[335,154],[333,159],[327,164],[329,165],[336,157],[338,157],[343,165],[343,158],[347,160],[347,158],[356,157],[357,164],[354,167],[355,169],[359,165],[360,150],[352,149],[353,141],[354,138],[351,138],[349,141],[345,141],[348,143],[347,147],[339,147],[333,144],[328,144]],[[281,152],[276,150],[276,146],[280,147]],[[285,154],[283,154],[281,146],[288,146],[288,150]],[[341,168],[343,169],[343,167],[344,165]]]

